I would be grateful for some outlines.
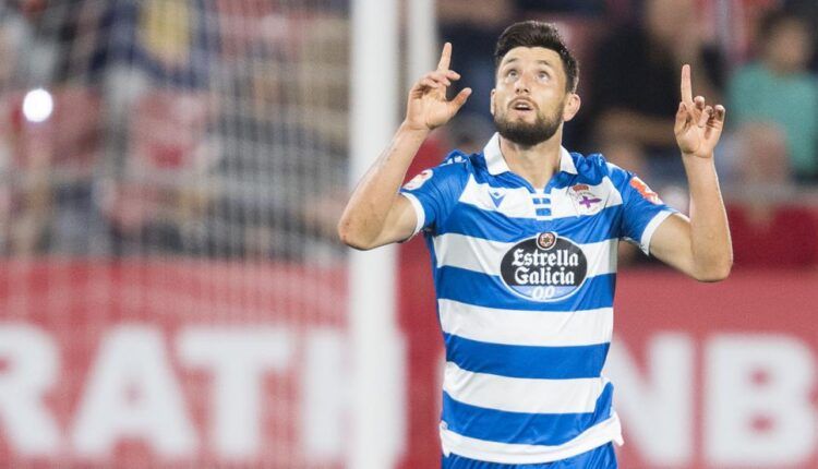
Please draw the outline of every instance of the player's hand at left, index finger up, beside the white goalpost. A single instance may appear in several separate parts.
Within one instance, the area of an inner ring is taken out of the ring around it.
[[[449,70],[452,44],[443,46],[437,70],[426,73],[409,91],[405,125],[411,130],[431,131],[448,122],[466,104],[471,88],[464,88],[454,99],[446,100],[446,88],[460,74]]]

